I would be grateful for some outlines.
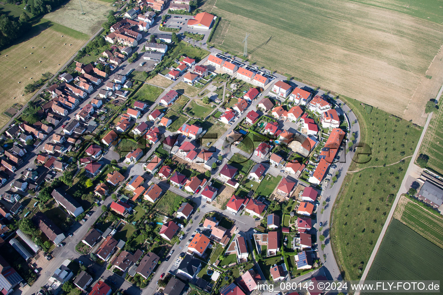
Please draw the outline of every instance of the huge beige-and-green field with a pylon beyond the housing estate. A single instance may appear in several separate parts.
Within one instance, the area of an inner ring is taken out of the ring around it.
[[[424,124],[443,82],[443,60],[434,59],[443,56],[441,3],[360,2],[370,5],[287,0],[264,10],[265,0],[207,0],[202,9],[222,17],[211,41],[221,50],[241,55],[249,33],[250,61]]]

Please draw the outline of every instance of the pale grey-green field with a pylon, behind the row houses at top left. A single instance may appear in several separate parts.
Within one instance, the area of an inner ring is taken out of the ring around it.
[[[45,19],[92,36],[105,22],[109,11],[114,10],[109,3],[100,0],[82,0],[82,8],[78,0],[70,0],[62,8],[45,15]]]

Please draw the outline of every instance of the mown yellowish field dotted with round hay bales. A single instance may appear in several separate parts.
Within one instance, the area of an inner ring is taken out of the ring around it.
[[[60,32],[48,28],[3,50],[0,56],[0,125],[4,126],[10,119],[3,115],[8,107],[14,103],[24,105],[33,96],[33,93],[22,96],[27,84],[41,79],[43,73],[56,73],[84,43],[85,40],[66,34],[62,37]]]

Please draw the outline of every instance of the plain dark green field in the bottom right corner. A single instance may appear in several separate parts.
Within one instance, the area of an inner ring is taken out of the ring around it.
[[[441,281],[442,263],[443,249],[392,219],[366,280]]]

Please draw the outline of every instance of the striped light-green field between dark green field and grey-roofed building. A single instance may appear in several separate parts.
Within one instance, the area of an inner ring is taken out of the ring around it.
[[[394,218],[443,249],[443,218],[431,213],[424,207],[401,196],[395,208]]]

